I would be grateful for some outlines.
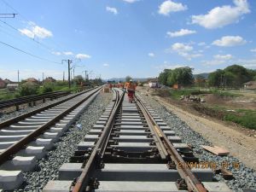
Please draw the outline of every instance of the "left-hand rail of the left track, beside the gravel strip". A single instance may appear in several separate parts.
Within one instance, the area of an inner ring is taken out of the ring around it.
[[[94,90],[94,89],[96,89],[96,88],[93,88],[93,89],[90,89],[90,90]],[[47,106],[44,106],[43,108],[38,108],[38,109],[35,109],[35,110],[31,111],[31,112],[21,114],[21,115],[15,117],[15,118],[5,120],[5,121],[0,123],[0,130],[3,129],[5,126],[12,125],[12,124],[14,124],[14,123],[16,123],[16,122],[18,122],[18,121],[20,121],[22,119],[26,119],[26,118],[36,114],[36,113],[42,112],[42,111],[44,111],[44,110],[46,110],[48,108],[55,107],[56,105],[61,104],[62,102],[67,102],[68,100],[73,99],[76,96],[80,96],[80,95],[82,95],[82,94],[84,94],[84,93],[86,93],[86,92],[88,92],[90,90],[85,90],[85,91],[80,92],[80,93],[78,93],[76,95],[69,96],[69,97],[67,97],[65,99],[62,99],[61,101],[54,102],[54,103],[51,103],[51,104],[49,104]]]

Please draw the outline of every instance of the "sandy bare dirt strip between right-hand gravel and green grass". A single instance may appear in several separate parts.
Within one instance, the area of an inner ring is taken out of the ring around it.
[[[155,90],[148,90],[144,87],[138,87],[137,90],[153,97],[213,145],[229,149],[230,155],[235,156],[246,166],[256,170],[256,131],[212,118],[193,107],[191,108],[193,104],[190,102],[158,96]],[[248,137],[248,135],[252,137]]]

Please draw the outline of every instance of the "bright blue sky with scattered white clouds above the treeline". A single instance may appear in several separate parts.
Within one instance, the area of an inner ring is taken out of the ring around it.
[[[67,79],[67,59],[103,79],[255,69],[255,11],[254,0],[0,0],[0,14],[18,14],[0,18],[0,78]]]

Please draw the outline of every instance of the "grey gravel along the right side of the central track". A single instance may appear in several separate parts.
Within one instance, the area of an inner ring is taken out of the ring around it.
[[[244,189],[256,189],[256,171],[251,168],[244,166],[238,159],[232,156],[219,157],[214,154],[207,152],[202,149],[200,145],[211,145],[212,143],[207,142],[201,134],[193,131],[189,125],[179,119],[175,114],[169,112],[165,107],[156,102],[154,99],[141,95],[145,102],[154,108],[155,112],[169,125],[173,131],[176,131],[177,136],[181,137],[183,143],[191,144],[194,147],[194,154],[199,157],[201,162],[214,162],[218,165],[224,165],[224,162],[228,162],[228,170],[233,173],[235,177],[232,180],[224,180],[220,174],[216,174],[214,177],[216,180],[226,183],[233,191],[241,192]],[[239,169],[236,168],[239,162]]]

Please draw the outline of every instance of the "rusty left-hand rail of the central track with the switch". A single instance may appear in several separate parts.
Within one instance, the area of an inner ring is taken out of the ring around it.
[[[73,186],[73,189],[71,189],[72,192],[84,191],[86,185],[89,183],[92,172],[96,169],[97,164],[100,163],[102,153],[104,153],[106,144],[108,143],[108,137],[111,133],[115,116],[118,113],[119,107],[121,106],[122,100],[125,96],[125,92],[123,92],[121,96],[117,96],[119,95],[118,90],[114,91],[116,94],[116,101],[112,108],[112,113],[108,119],[107,125],[105,125],[105,127],[103,128],[102,135],[96,142],[96,146],[93,148],[93,151],[90,154],[90,158],[86,162],[86,165],[84,166],[84,169],[80,174],[79,179]]]

